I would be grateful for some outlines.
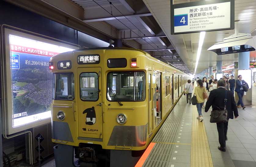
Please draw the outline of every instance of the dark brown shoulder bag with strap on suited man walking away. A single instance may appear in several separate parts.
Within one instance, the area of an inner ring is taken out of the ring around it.
[[[225,90],[224,110],[213,110],[210,114],[210,123],[228,122],[227,90]]]

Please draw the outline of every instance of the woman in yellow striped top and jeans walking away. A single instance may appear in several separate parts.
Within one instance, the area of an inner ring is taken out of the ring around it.
[[[198,112],[197,119],[200,120],[200,122],[203,121],[203,114],[202,114],[202,107],[204,103],[203,99],[203,93],[206,93],[206,89],[203,86],[203,81],[201,79],[197,80],[197,87],[195,87],[194,94],[196,95],[196,108]]]

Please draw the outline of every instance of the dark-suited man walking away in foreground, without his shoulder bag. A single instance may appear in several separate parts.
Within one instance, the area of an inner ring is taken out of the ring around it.
[[[224,79],[218,80],[217,87],[218,89],[214,89],[210,91],[209,98],[206,102],[205,112],[207,112],[212,106],[212,110],[223,110],[224,109],[224,99],[225,99],[225,91],[227,91],[227,104],[226,110],[228,111],[228,119],[233,119],[238,117],[238,111],[236,107],[236,102],[234,98],[234,94],[230,90],[225,89],[225,81]],[[219,133],[219,143],[221,146],[218,147],[221,151],[226,151],[226,140],[227,140],[227,131],[228,131],[228,122],[217,123],[217,129]]]

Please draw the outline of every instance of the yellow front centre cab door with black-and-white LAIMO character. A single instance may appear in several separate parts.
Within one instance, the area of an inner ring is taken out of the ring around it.
[[[101,68],[77,69],[78,135],[102,139]]]

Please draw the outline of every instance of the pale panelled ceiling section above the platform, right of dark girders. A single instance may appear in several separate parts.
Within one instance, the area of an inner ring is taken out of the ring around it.
[[[200,0],[174,0],[174,4],[196,2]],[[159,23],[167,38],[171,41],[181,59],[188,69],[194,73],[196,64],[196,54],[199,43],[199,33],[171,35],[170,30],[170,1],[166,0],[143,0],[155,20]],[[255,0],[235,0],[235,20],[239,21],[239,33],[256,34],[256,1]],[[234,34],[235,30],[206,32],[201,56],[199,59],[197,73],[205,70],[209,66],[216,66],[217,60],[222,60],[223,68],[238,61],[238,53],[217,56],[216,53],[207,51],[215,43],[222,42],[223,38]],[[250,58],[255,60],[255,53]],[[232,67],[232,66],[231,66]]]

